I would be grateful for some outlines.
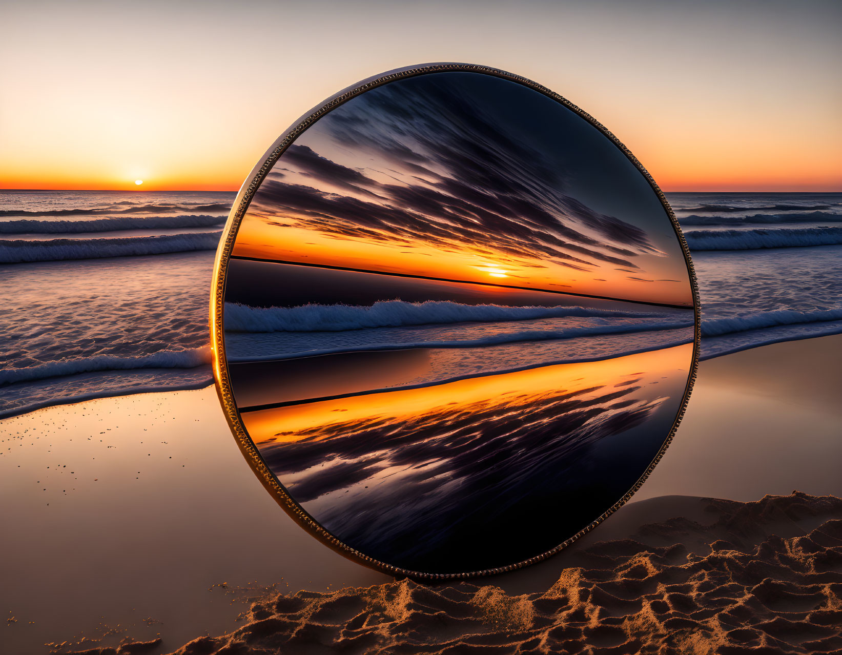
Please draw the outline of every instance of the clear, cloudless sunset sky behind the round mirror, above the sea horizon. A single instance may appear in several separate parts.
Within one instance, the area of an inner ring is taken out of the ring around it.
[[[308,109],[428,61],[552,88],[665,190],[842,189],[842,3],[4,2],[0,26],[5,189],[236,190]]]

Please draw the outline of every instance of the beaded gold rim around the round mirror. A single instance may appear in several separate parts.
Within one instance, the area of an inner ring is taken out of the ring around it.
[[[623,495],[623,497],[620,500],[618,500],[607,511],[605,511],[605,513],[602,514],[599,518],[595,519],[590,525],[586,526],[583,530],[579,530],[576,535],[573,535],[572,537],[568,538],[568,540],[563,541],[558,546],[555,546],[549,551],[541,553],[541,555],[536,555],[522,562],[509,564],[505,567],[458,573],[429,573],[408,571],[400,567],[394,567],[386,562],[377,561],[376,559],[365,555],[365,553],[356,551],[350,546],[344,544],[343,541],[339,540],[336,536],[332,535],[330,532],[328,532],[328,530],[325,530],[321,525],[319,525],[317,521],[313,519],[312,516],[310,516],[310,514],[307,514],[306,511],[301,508],[301,505],[296,503],[296,501],[290,497],[289,493],[286,492],[283,485],[280,484],[278,479],[269,470],[269,466],[266,465],[263,458],[258,453],[257,448],[254,446],[252,440],[249,438],[248,432],[246,431],[242,423],[242,419],[240,418],[240,413],[237,410],[237,405],[234,402],[234,397],[232,395],[231,382],[228,375],[225,354],[225,326],[223,324],[223,304],[226,285],[227,265],[228,260],[231,256],[234,242],[237,238],[237,231],[240,226],[240,222],[242,221],[242,217],[245,215],[246,210],[248,210],[248,205],[251,202],[253,195],[259,188],[260,184],[263,182],[266,175],[274,166],[274,163],[277,162],[280,156],[285,152],[286,148],[290,146],[290,144],[293,141],[295,141],[296,138],[300,136],[301,133],[304,130],[306,130],[307,127],[309,127],[314,122],[322,118],[322,116],[324,116],[325,114],[328,114],[329,111],[336,109],[339,105],[344,104],[350,99],[353,99],[354,97],[360,95],[360,93],[365,93],[365,91],[368,91],[371,88],[380,87],[384,84],[392,83],[397,80],[404,79],[406,77],[428,75],[430,73],[437,72],[473,72],[493,77],[502,77],[503,79],[509,80],[511,82],[522,84],[525,87],[534,89],[539,93],[543,93],[548,98],[551,98],[557,103],[562,104],[564,107],[567,107],[568,109],[572,110],[584,120],[587,120],[591,125],[594,125],[595,128],[600,130],[602,134],[604,134],[608,139],[610,139],[610,141],[613,142],[614,145],[617,146],[621,150],[621,152],[623,152],[624,155],[626,155],[626,157],[628,157],[629,161],[631,161],[635,165],[635,167],[637,167],[637,170],[639,170],[640,173],[642,173],[643,177],[646,178],[647,182],[652,187],[655,194],[658,195],[658,200],[660,200],[664,210],[666,210],[667,215],[669,216],[669,220],[672,222],[675,235],[679,239],[679,242],[681,244],[681,250],[684,253],[685,257],[685,263],[687,264],[687,272],[690,278],[690,286],[693,294],[693,309],[695,314],[693,358],[690,364],[690,375],[688,376],[684,397],[682,398],[681,404],[679,406],[679,412],[676,415],[672,428],[669,430],[669,435],[667,439],[663,442],[661,449],[658,450],[658,454],[655,455],[653,461],[649,464],[649,466],[647,466],[646,471],[644,471],[642,476],[638,478],[637,482],[635,482],[632,488],[629,489],[628,492],[626,492],[626,494]],[[582,109],[579,109],[576,105],[570,103],[567,99],[562,98],[562,96],[552,92],[550,89],[542,87],[540,84],[534,83],[531,80],[526,79],[525,77],[520,77],[509,72],[500,71],[496,68],[478,66],[474,64],[434,63],[399,68],[394,71],[385,72],[376,77],[370,77],[358,84],[355,84],[352,87],[340,91],[332,98],[329,98],[324,103],[312,109],[307,114],[304,114],[304,116],[302,116],[300,120],[296,121],[295,125],[290,127],[290,129],[286,130],[281,136],[278,137],[278,139],[272,144],[272,146],[269,147],[269,150],[266,152],[264,157],[258,162],[258,164],[252,169],[252,172],[249,174],[248,178],[243,183],[242,188],[237,194],[237,198],[234,200],[234,203],[232,205],[231,213],[228,216],[228,220],[226,221],[225,229],[222,232],[222,238],[219,248],[216,251],[216,261],[214,263],[213,269],[213,282],[210,289],[210,344],[213,355],[213,373],[214,381],[216,382],[216,392],[220,398],[221,405],[225,412],[228,424],[232,429],[232,433],[237,439],[237,445],[239,445],[239,448],[242,451],[242,455],[252,466],[252,469],[257,475],[260,482],[262,482],[264,487],[266,487],[266,489],[269,490],[269,493],[271,493],[274,499],[277,501],[277,503],[279,503],[280,506],[283,509],[285,509],[287,514],[290,514],[290,516],[293,519],[296,519],[296,521],[298,521],[298,523],[301,524],[302,527],[308,530],[312,535],[315,535],[320,541],[322,541],[322,543],[331,547],[334,551],[337,551],[341,555],[349,557],[350,559],[356,562],[360,562],[368,567],[374,568],[381,572],[386,572],[395,576],[406,576],[408,578],[417,578],[422,580],[472,578],[476,576],[491,575],[495,573],[512,571],[520,567],[525,567],[529,564],[541,562],[547,557],[554,555],[558,551],[561,551],[563,548],[570,546],[579,537],[588,533],[590,530],[593,530],[594,527],[599,525],[603,520],[605,520],[606,517],[608,517],[610,514],[613,514],[617,509],[619,509],[623,504],[625,504],[629,500],[629,498],[632,498],[632,495],[635,492],[637,492],[637,489],[639,489],[643,482],[646,481],[649,474],[653,471],[655,465],[658,464],[658,461],[660,461],[661,457],[663,457],[663,453],[667,450],[667,447],[669,446],[670,442],[674,437],[676,429],[678,429],[679,423],[681,422],[681,418],[684,417],[687,402],[689,402],[690,400],[690,391],[693,387],[693,383],[695,382],[696,370],[698,368],[699,349],[701,345],[701,306],[699,302],[698,285],[695,279],[695,271],[693,269],[693,263],[690,259],[690,250],[687,248],[687,242],[685,241],[685,237],[681,232],[681,228],[679,227],[678,221],[676,221],[675,219],[673,210],[669,206],[669,203],[667,202],[666,198],[661,192],[661,189],[658,188],[658,184],[655,183],[652,176],[647,172],[645,168],[642,167],[641,163],[637,161],[637,158],[634,157],[634,155],[632,155],[631,152],[629,152],[626,146],[624,146],[619,140],[617,140],[616,136],[611,134],[609,130],[606,130],[605,127],[601,125],[599,121],[594,120],[593,117],[584,112]]]

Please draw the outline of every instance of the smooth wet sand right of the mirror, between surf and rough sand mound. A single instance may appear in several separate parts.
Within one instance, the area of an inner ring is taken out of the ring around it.
[[[634,499],[842,496],[840,398],[842,334],[703,361],[679,431]]]

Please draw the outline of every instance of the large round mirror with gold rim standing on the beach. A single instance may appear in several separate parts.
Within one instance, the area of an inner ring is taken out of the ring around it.
[[[387,572],[536,562],[631,497],[695,375],[663,194],[588,114],[487,67],[366,80],[243,185],[216,261],[217,388],[314,535]]]

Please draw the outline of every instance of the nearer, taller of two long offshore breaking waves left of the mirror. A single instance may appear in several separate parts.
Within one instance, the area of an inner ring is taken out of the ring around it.
[[[0,241],[0,264],[215,250],[221,233],[199,232],[161,237]]]

